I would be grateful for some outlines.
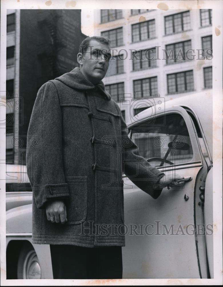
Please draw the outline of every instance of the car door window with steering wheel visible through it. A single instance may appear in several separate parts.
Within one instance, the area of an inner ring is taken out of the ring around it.
[[[144,121],[131,131],[140,155],[154,162],[154,166],[186,163],[193,158],[188,129],[179,114],[166,115],[165,121],[158,117],[153,124]]]

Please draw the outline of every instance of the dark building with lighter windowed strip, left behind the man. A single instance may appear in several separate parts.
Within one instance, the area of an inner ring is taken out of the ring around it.
[[[7,10],[6,160],[25,163],[26,136],[42,84],[78,66],[81,10]]]

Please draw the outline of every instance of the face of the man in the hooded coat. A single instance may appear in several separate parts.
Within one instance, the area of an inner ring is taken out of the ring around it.
[[[94,39],[90,40],[84,55],[77,56],[81,72],[94,85],[105,76],[110,57],[109,46]]]

